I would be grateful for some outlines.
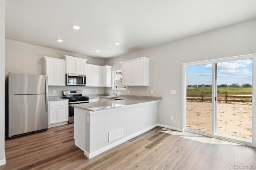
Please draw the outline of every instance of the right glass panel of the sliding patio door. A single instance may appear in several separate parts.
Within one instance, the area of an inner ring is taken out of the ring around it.
[[[216,63],[219,136],[252,142],[252,62],[250,58]]]

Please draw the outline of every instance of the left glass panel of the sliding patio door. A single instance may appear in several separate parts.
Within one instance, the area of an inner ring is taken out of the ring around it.
[[[212,64],[186,67],[186,128],[212,133]]]

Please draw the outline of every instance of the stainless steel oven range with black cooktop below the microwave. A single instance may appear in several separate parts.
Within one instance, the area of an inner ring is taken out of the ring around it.
[[[68,105],[89,103],[89,97],[82,96],[82,90],[64,90],[63,98],[69,99]],[[74,123],[74,107],[68,108],[68,123]]]

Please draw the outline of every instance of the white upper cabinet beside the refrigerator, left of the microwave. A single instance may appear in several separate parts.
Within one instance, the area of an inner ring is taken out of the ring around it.
[[[66,85],[66,60],[53,57],[43,57],[44,75],[48,75],[48,85],[64,86]]]

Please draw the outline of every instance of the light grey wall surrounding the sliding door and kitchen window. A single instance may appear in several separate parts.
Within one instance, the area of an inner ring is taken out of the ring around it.
[[[150,58],[150,83],[148,87],[127,87],[130,93],[111,88],[105,88],[105,92],[110,89],[110,93],[124,95],[162,96],[162,102],[158,103],[158,123],[183,128],[182,63],[251,53],[256,53],[256,20],[107,59],[105,65],[112,65],[114,71],[122,69],[120,61]],[[151,89],[153,94],[150,93]],[[170,95],[170,90],[176,90],[176,95]]]

